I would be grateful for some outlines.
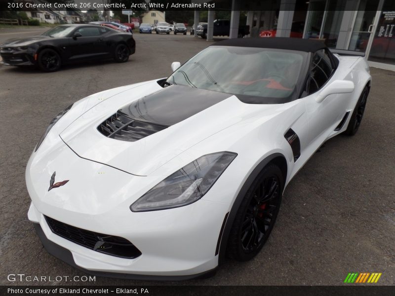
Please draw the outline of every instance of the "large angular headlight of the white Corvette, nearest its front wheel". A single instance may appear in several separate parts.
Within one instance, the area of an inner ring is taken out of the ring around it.
[[[170,175],[131,206],[132,212],[178,208],[199,200],[235,159],[237,153],[203,155]]]

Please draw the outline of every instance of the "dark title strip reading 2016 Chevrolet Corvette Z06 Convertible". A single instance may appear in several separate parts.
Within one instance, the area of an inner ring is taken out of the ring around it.
[[[346,2],[346,1],[345,1]],[[322,3],[325,3],[323,1]],[[132,10],[149,11],[279,11],[279,10],[357,10],[353,5],[309,5],[309,1],[286,0],[0,0],[0,10],[50,11],[50,10]],[[323,8],[324,7],[324,8]],[[365,10],[369,10],[367,6]],[[373,7],[373,6],[372,6]],[[373,8],[372,8],[373,9]],[[375,9],[375,8],[374,8]],[[384,8],[383,8],[384,9]],[[395,9],[395,1],[387,0],[385,9]]]

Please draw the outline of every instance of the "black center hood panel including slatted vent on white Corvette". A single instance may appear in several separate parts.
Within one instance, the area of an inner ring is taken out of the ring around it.
[[[97,129],[109,138],[134,142],[203,111],[231,95],[171,85],[126,105]]]

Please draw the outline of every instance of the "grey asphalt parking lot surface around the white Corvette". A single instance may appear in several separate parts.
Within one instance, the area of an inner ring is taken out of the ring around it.
[[[40,31],[34,29],[34,31]],[[17,33],[17,34],[16,34]],[[39,32],[0,30],[0,43]],[[53,116],[105,89],[165,77],[209,42],[190,35],[135,34],[136,54],[67,66],[56,73],[0,66],[0,284],[10,273],[76,276],[50,256],[27,219],[25,167]],[[395,284],[395,73],[371,68],[373,83],[354,137],[326,142],[286,188],[272,235],[248,262],[228,260],[209,279],[184,282],[96,277],[97,285],[342,285],[349,272],[381,272]]]

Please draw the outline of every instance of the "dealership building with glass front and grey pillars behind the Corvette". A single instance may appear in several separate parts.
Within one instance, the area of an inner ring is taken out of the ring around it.
[[[240,11],[247,10],[248,1],[232,0],[230,38],[237,37]],[[395,71],[394,0],[254,0],[250,4],[262,8],[247,11],[248,37],[316,38],[330,48],[365,52],[370,66]],[[213,37],[214,19],[215,11],[209,10],[207,40]]]

